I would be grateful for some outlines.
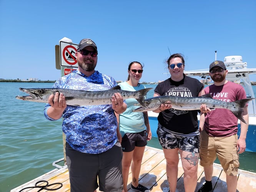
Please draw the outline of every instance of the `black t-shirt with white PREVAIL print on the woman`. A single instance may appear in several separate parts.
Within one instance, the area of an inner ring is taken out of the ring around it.
[[[183,74],[184,75],[184,74]],[[197,79],[184,75],[181,81],[173,81],[171,78],[159,83],[155,92],[161,96],[197,97],[203,89],[203,84]],[[198,130],[197,110],[180,111],[167,109],[158,115],[158,122],[170,131],[188,134]]]

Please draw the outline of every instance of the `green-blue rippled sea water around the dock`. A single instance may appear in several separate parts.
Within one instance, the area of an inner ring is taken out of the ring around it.
[[[0,192],[55,169],[52,162],[63,158],[62,120],[45,119],[44,103],[15,99],[25,95],[18,88],[50,87],[52,83],[0,83]],[[253,88],[256,94],[256,86]],[[153,90],[148,98],[153,96]],[[151,139],[148,146],[161,149],[157,138]],[[240,155],[240,168],[256,172],[255,160],[255,152],[244,152]]]

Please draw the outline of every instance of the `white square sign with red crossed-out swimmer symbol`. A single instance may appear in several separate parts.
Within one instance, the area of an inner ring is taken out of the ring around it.
[[[76,47],[77,44],[60,41],[60,66],[78,68]]]

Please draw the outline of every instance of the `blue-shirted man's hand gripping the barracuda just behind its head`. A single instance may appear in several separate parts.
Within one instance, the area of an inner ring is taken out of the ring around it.
[[[56,92],[51,94],[48,98],[50,108],[47,110],[47,114],[50,118],[60,119],[63,111],[66,109],[66,99],[63,93]]]

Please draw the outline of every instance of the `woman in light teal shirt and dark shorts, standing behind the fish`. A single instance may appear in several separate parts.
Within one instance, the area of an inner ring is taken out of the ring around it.
[[[141,63],[137,61],[131,62],[128,66],[127,81],[119,83],[121,89],[126,91],[145,89],[145,86],[139,83],[143,72],[142,68]],[[152,136],[148,112],[132,112],[133,109],[138,108],[133,106],[138,101],[136,99],[126,99],[125,101],[127,104],[126,111],[122,114],[116,114],[120,128],[120,131],[117,130],[117,134],[123,149],[123,189],[127,192],[128,174],[131,166],[131,189],[150,192],[148,188],[138,182],[145,146]]]

